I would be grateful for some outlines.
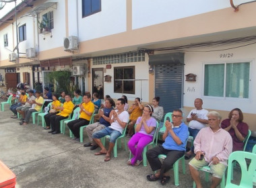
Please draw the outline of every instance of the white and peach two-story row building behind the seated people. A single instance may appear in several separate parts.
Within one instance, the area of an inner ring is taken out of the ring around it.
[[[223,118],[241,108],[256,130],[256,3],[239,2],[28,0],[0,19],[1,74],[32,87],[69,69],[82,91],[130,103],[159,96],[165,112],[185,115],[199,97]]]

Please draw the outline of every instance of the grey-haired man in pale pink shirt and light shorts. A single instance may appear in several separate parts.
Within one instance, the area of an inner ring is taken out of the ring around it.
[[[201,167],[209,166],[212,171],[211,188],[217,187],[225,173],[229,154],[232,152],[232,138],[226,130],[220,128],[221,116],[217,111],[207,115],[209,127],[203,128],[194,141],[195,158],[189,162],[191,177],[197,188],[201,188],[199,172]]]

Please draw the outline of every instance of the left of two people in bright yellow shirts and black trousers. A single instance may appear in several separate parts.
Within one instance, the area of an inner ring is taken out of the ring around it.
[[[51,116],[50,122],[51,122],[51,131],[49,133],[51,134],[59,134],[61,133],[60,130],[60,121],[69,118],[69,115],[73,111],[74,104],[71,101],[71,95],[67,94],[65,96],[65,103],[62,107],[56,107],[57,110],[60,110],[59,113],[56,115]]]

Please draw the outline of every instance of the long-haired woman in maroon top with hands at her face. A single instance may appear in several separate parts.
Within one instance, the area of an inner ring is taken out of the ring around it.
[[[230,133],[233,140],[233,152],[243,151],[243,141],[247,137],[249,126],[243,122],[243,112],[239,108],[234,108],[228,114],[228,119],[221,123],[222,129]]]

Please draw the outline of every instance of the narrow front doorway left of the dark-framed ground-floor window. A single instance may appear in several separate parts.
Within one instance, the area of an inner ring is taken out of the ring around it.
[[[98,93],[99,99],[104,99],[103,68],[92,68],[92,93]]]

